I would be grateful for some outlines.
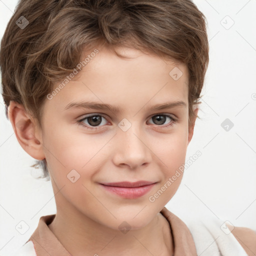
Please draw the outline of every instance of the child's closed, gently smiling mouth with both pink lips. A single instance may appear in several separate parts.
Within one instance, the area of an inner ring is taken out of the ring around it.
[[[139,180],[136,182],[122,181],[99,183],[104,190],[123,198],[135,199],[148,193],[157,182]]]

